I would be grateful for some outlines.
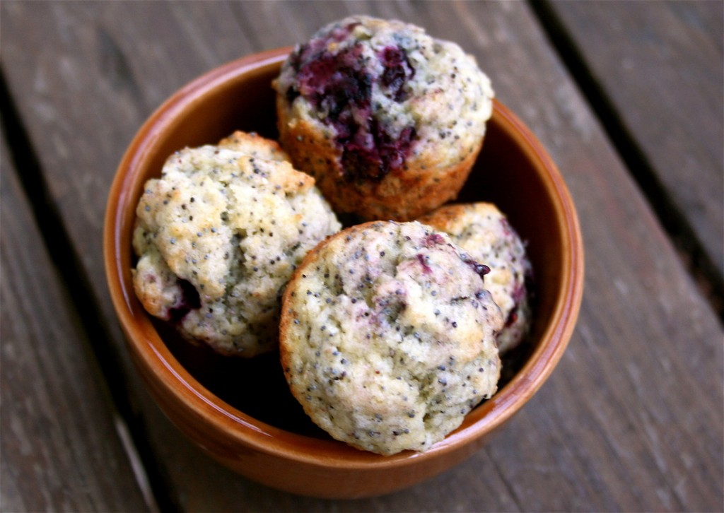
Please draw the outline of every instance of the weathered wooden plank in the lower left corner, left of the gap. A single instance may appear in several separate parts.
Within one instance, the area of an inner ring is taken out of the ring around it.
[[[0,159],[0,510],[147,511],[4,143]]]

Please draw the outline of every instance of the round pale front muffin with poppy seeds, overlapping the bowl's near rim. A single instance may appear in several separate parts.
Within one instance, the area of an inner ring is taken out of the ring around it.
[[[500,376],[502,314],[485,266],[422,224],[372,221],[329,237],[295,271],[279,348],[292,394],[337,440],[425,451]]]

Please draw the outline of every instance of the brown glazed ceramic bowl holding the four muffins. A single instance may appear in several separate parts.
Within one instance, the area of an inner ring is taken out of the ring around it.
[[[525,125],[496,102],[483,150],[458,200],[496,203],[528,241],[536,280],[530,339],[505,358],[497,394],[428,451],[384,457],[332,440],[292,399],[277,355],[230,359],[185,344],[146,314],[130,274],[135,205],[144,182],[185,146],[216,143],[234,130],[276,137],[270,82],[288,51],[266,51],[211,70],[177,91],[141,127],[109,195],[106,274],[128,349],[153,397],[211,457],[293,493],[373,496],[418,483],[470,456],[543,384],[578,316],[581,234],[555,164]]]

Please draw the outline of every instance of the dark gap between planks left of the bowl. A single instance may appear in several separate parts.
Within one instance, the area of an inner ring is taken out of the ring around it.
[[[1,122],[4,125],[9,157],[14,163],[22,190],[30,200],[33,219],[41,232],[43,245],[51,255],[53,264],[63,280],[62,284],[72,298],[73,305],[69,306],[77,311],[82,321],[81,328],[89,341],[108,340],[111,337],[99,321],[101,314],[96,306],[93,290],[88,284],[87,276],[81,271],[83,267],[80,265],[80,257],[73,250],[67,230],[60,221],[62,216],[54,206],[38,157],[14,107],[4,70],[1,68],[0,114],[2,114]],[[116,365],[119,361],[116,351],[109,344],[91,342],[90,346],[90,351],[86,353],[95,359],[93,364],[101,369],[105,381],[103,384],[112,401],[116,431],[127,452],[138,486],[146,497],[149,509],[164,512],[180,511],[178,504],[166,492],[164,478],[158,470],[159,466],[153,457],[153,451],[148,446],[149,437],[146,436],[140,418],[134,413],[135,408],[127,394],[125,378]]]

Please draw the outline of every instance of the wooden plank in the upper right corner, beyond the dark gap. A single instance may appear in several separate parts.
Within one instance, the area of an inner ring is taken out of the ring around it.
[[[658,208],[673,205],[674,213],[660,214],[683,216],[669,221],[672,229],[683,232],[678,236],[684,247],[692,246],[687,237],[698,240],[714,264],[707,272],[715,273],[722,287],[724,3],[550,5],[589,67],[595,82],[589,87],[600,88],[615,110],[613,130],[631,137],[641,152],[633,165],[652,168],[655,179],[644,173],[641,182],[652,189]],[[694,265],[707,265],[696,258]]]

